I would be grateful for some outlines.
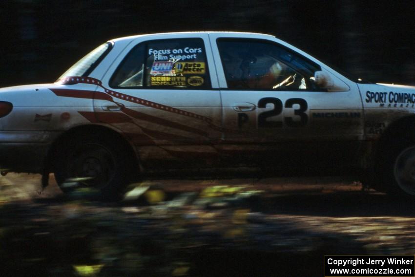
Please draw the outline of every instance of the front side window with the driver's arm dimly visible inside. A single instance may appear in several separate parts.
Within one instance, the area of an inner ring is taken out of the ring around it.
[[[277,43],[218,39],[229,89],[317,90],[311,81],[320,66]]]

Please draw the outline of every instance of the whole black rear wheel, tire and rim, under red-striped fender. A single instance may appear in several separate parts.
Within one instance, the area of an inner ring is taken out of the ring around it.
[[[55,155],[56,181],[66,193],[73,191],[65,186],[68,181],[81,179],[79,185],[97,189],[103,200],[117,200],[132,175],[126,151],[120,140],[110,136],[78,134],[67,138]]]

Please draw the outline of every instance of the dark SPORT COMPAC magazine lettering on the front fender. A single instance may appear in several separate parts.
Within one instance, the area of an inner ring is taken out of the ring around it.
[[[376,103],[379,107],[415,107],[414,93],[366,91],[366,103]]]

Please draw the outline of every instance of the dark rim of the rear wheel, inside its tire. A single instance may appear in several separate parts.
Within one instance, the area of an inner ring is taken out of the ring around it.
[[[78,147],[69,158],[69,178],[91,177],[82,181],[85,186],[102,189],[115,174],[114,157],[108,149],[99,144],[85,144]]]

